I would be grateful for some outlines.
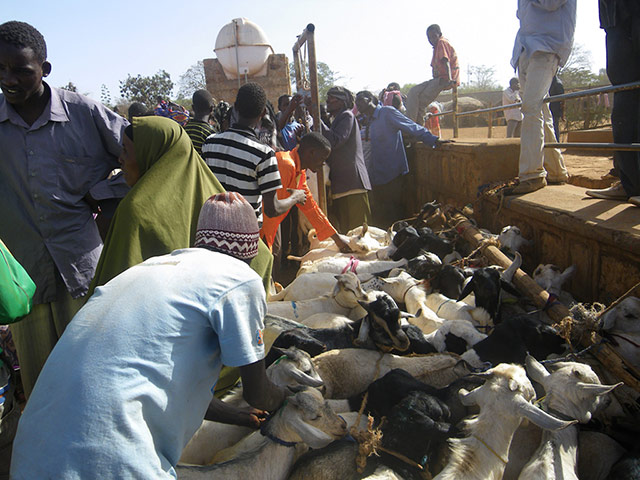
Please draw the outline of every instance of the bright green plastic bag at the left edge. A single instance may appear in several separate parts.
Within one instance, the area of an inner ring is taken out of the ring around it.
[[[0,324],[14,323],[31,311],[36,284],[0,240]]]

